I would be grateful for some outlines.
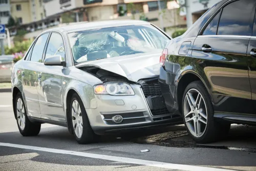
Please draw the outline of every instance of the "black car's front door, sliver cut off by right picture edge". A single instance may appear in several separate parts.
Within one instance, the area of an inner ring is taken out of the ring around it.
[[[251,85],[251,98],[256,114],[256,17],[254,16],[253,32],[249,41],[248,49],[248,73]]]

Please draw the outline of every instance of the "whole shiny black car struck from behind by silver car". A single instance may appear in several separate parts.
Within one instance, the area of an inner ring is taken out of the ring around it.
[[[198,143],[223,137],[230,123],[256,124],[255,8],[255,0],[221,1],[160,57],[167,108]]]

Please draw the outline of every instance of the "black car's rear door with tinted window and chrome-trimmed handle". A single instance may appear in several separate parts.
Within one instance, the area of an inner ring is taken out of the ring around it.
[[[192,56],[203,61],[201,72],[209,81],[215,111],[254,112],[246,55],[254,4],[254,0],[230,1],[194,42]]]

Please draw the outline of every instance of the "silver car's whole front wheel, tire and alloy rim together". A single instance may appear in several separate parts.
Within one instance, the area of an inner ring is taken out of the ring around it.
[[[78,104],[78,107],[80,110],[77,108],[76,104]],[[74,94],[71,98],[69,111],[71,116],[70,119],[71,119],[72,131],[76,138],[76,141],[79,144],[89,144],[94,142],[96,139],[96,135],[90,125],[90,122],[86,113],[86,109],[84,109],[82,100],[77,94]]]

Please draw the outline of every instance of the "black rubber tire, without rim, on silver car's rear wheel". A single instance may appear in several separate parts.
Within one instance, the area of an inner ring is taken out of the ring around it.
[[[17,118],[17,100],[21,99],[24,105],[24,110],[25,110],[25,127],[24,129],[20,129],[19,123],[18,123],[18,118]],[[37,136],[40,132],[41,129],[41,124],[40,123],[33,123],[29,120],[28,116],[27,116],[27,110],[25,108],[25,103],[24,100],[22,98],[22,94],[18,93],[16,95],[16,99],[15,99],[15,103],[14,103],[14,113],[16,116],[16,121],[17,121],[17,126],[19,129],[20,134],[22,134],[23,136]]]

